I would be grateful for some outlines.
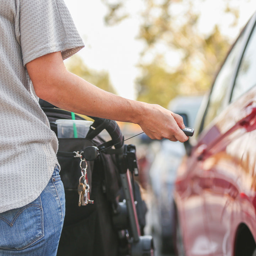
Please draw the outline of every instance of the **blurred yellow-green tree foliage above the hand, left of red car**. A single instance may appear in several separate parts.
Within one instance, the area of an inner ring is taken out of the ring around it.
[[[108,1],[103,2],[109,6]],[[199,32],[198,6],[203,2],[144,0],[138,38],[146,44],[139,63],[142,76],[137,80],[138,100],[167,106],[176,95],[199,95],[209,89],[230,42],[217,25],[207,34]],[[231,25],[234,26],[239,10],[231,8],[229,3],[230,0],[223,0],[223,11],[233,15]],[[125,0],[116,0],[118,11],[112,9],[110,12],[111,25],[114,20],[119,21],[118,14],[124,13],[122,9],[125,9]],[[162,50],[159,52],[159,49]],[[170,57],[166,59],[165,56],[168,52],[180,55],[180,62],[175,67],[168,64]],[[148,56],[153,56],[150,62]]]

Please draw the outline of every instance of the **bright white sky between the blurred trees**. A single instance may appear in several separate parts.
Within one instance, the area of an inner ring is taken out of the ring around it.
[[[85,64],[95,70],[106,70],[117,93],[126,98],[135,98],[135,79],[139,75],[136,67],[143,43],[136,39],[139,31],[140,16],[144,5],[142,0],[129,0],[127,10],[129,18],[118,26],[105,26],[104,16],[107,13],[101,0],[64,0],[68,6],[75,25],[84,40],[85,48],[78,53]],[[198,0],[195,0],[195,2]],[[256,11],[254,0],[231,0],[231,4],[239,6],[239,25],[231,29],[228,15],[223,15],[223,0],[205,0],[200,4],[202,11],[199,30],[206,33],[221,23],[223,32],[234,38]],[[178,10],[177,10],[178,11]],[[172,53],[166,53],[172,59]]]

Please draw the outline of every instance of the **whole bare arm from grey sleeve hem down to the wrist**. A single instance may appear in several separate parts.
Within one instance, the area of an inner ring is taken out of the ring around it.
[[[66,70],[60,52],[44,55],[26,65],[39,98],[89,116],[138,123],[147,104],[101,90]]]

